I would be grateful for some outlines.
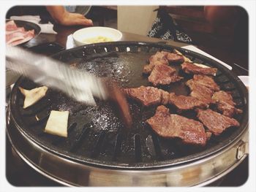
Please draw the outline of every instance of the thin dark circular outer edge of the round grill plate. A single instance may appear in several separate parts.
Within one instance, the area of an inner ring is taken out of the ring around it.
[[[99,47],[99,46],[107,46],[107,45],[113,45],[113,43],[99,43],[97,45],[86,45],[86,46],[80,46],[80,47],[75,47],[73,48],[72,50],[79,50],[81,49],[81,47]],[[246,130],[246,126],[248,126],[248,97],[247,97],[247,92],[246,92],[246,88],[244,86],[244,84],[241,82],[241,80],[236,77],[235,74],[233,74],[232,72],[229,71],[229,69],[225,68],[225,66],[222,66],[221,64],[219,64],[217,61],[214,61],[212,60],[211,58],[207,58],[206,56],[204,55],[200,55],[198,53],[195,53],[195,52],[192,52],[190,50],[184,50],[183,48],[181,47],[173,47],[173,46],[170,46],[170,45],[159,45],[159,44],[156,44],[156,43],[148,43],[148,42],[115,42],[114,45],[125,45],[127,47],[129,46],[132,46],[132,45],[145,45],[145,46],[154,46],[154,47],[159,47],[159,48],[162,48],[162,49],[177,49],[179,51],[181,51],[182,53],[186,52],[188,54],[192,54],[192,55],[197,55],[197,57],[199,58],[203,58],[203,60],[205,61],[208,61],[210,62],[211,64],[214,64],[214,65],[217,65],[218,66],[218,69],[221,69],[222,71],[225,72],[225,74],[229,77],[231,77],[232,79],[236,80],[235,82],[233,83],[236,83],[238,86],[238,89],[239,91],[241,91],[241,93],[243,93],[244,95],[244,108],[246,108],[245,112],[244,112],[244,118],[242,120],[242,123],[241,123],[241,127],[243,127],[243,130],[239,133],[239,134],[236,134],[236,137],[234,138],[230,138],[230,141],[231,142],[225,142],[225,143],[221,143],[215,147],[211,147],[211,149],[208,149],[208,150],[205,150],[203,152],[200,152],[200,153],[195,153],[195,154],[192,154],[192,155],[188,155],[184,158],[177,158],[177,159],[174,159],[174,160],[167,160],[167,161],[157,161],[157,162],[153,162],[153,163],[149,163],[149,164],[144,164],[144,163],[135,163],[135,164],[132,164],[132,165],[127,165],[124,166],[123,164],[120,164],[118,162],[102,162],[102,161],[97,161],[97,160],[94,160],[94,159],[91,159],[91,158],[88,158],[85,161],[83,161],[84,164],[89,164],[89,165],[94,165],[94,166],[108,166],[108,167],[112,167],[112,168],[116,168],[116,169],[151,169],[151,168],[155,168],[155,167],[165,167],[165,166],[176,166],[178,164],[187,164],[188,162],[191,162],[191,161],[197,161],[199,159],[202,159],[202,158],[206,158],[207,156],[209,155],[212,155],[214,153],[217,153],[219,152],[220,150],[224,149],[225,147],[228,147],[229,145],[231,145],[233,143],[234,140],[238,139],[241,137],[241,135],[244,133],[244,131]],[[57,58],[59,55],[63,55],[65,53],[69,53],[70,50],[64,50],[64,51],[61,51],[60,53],[57,53],[55,55],[53,55],[53,58]],[[21,80],[22,77],[20,77],[20,79],[17,81],[19,82]],[[15,83],[15,85],[17,85],[17,83]],[[15,87],[14,87],[15,88]],[[13,96],[13,93],[11,93],[11,99],[12,99],[12,96]],[[11,105],[11,114],[13,114],[13,109],[12,109],[12,105]],[[16,122],[15,118],[13,118],[14,122],[15,122],[15,125],[18,126],[18,128],[20,129],[20,131],[23,131],[23,128],[21,128],[19,125],[18,125],[18,122]],[[29,134],[26,133],[26,131],[23,131],[23,133],[29,137],[33,142],[36,142],[37,144],[40,145],[40,143],[37,142],[36,139],[32,138],[29,136]],[[45,146],[42,146],[42,147],[45,147]],[[47,147],[45,147],[46,150],[49,150]],[[60,155],[59,153],[57,153],[55,150],[50,150],[52,151],[53,153],[56,153],[56,155]],[[65,158],[69,158],[73,161],[78,161],[80,162],[78,159],[76,158],[72,158],[70,157],[69,155],[65,155],[65,154],[61,154],[62,156],[64,156]]]

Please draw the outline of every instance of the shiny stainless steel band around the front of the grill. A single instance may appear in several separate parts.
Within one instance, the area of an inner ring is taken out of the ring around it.
[[[7,135],[20,158],[40,174],[67,186],[203,186],[236,168],[247,153],[237,158],[238,147],[244,143],[243,135],[225,150],[189,164],[150,170],[103,169],[50,153],[26,138],[18,128],[10,128],[10,112],[7,118]]]

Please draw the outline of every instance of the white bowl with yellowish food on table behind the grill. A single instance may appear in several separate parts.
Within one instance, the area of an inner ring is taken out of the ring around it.
[[[108,41],[116,42],[119,41],[122,37],[121,31],[116,30],[115,28],[108,27],[88,27],[81,28],[78,31],[75,31],[73,34],[73,39],[76,45],[86,45],[95,42],[91,42],[91,39],[96,39],[99,37],[108,38]],[[99,40],[99,42],[105,42],[104,39]]]

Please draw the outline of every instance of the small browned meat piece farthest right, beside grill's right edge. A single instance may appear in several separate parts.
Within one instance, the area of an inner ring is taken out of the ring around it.
[[[227,117],[232,118],[233,115],[243,112],[235,107],[236,103],[233,101],[233,97],[230,93],[217,91],[212,96],[212,99],[217,102],[218,110]]]

